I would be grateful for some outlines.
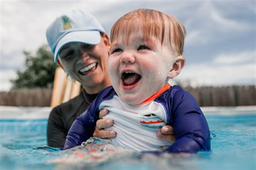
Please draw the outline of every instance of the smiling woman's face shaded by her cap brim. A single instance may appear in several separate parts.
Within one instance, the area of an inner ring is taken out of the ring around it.
[[[110,86],[107,63],[110,41],[106,34],[97,45],[70,43],[59,52],[59,60],[72,79],[80,82],[87,93],[95,94]]]

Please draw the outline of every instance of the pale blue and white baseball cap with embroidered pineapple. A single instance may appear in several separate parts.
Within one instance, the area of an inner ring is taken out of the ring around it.
[[[64,13],[48,27],[46,38],[57,62],[60,49],[71,42],[96,45],[100,42],[103,26],[90,13],[72,10]]]

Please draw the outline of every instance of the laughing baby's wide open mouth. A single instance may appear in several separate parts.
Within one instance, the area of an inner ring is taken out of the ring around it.
[[[133,84],[137,83],[140,79],[142,79],[142,76],[133,72],[124,72],[121,76],[121,79],[124,86],[132,86]]]

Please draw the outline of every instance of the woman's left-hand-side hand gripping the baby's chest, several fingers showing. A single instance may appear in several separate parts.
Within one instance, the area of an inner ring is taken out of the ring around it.
[[[107,109],[102,109],[99,111],[100,119],[96,122],[96,127],[95,127],[95,131],[93,133],[93,137],[105,139],[105,138],[112,138],[112,137],[117,136],[116,131],[104,129],[109,126],[112,126],[114,123],[112,119],[102,119],[108,113],[109,113],[109,110],[107,110]]]

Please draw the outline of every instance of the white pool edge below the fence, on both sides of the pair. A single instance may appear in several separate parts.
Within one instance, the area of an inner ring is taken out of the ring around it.
[[[200,107],[205,116],[256,115],[256,105],[239,107]],[[51,107],[0,106],[0,119],[48,119]]]

